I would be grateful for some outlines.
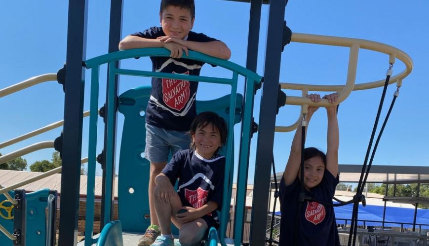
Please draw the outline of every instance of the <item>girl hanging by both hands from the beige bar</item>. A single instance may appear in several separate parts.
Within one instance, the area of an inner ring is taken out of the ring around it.
[[[312,102],[320,101],[318,94],[311,94],[308,97]],[[323,98],[332,104],[332,106],[326,107],[328,116],[326,155],[317,148],[305,148],[304,180],[301,180],[302,128],[299,126],[293,138],[289,159],[280,181],[279,245],[340,246],[333,207],[307,200],[298,203],[301,182],[304,183],[306,197],[312,197],[324,204],[332,204],[335,187],[339,182],[339,129],[337,106],[335,105],[338,93],[329,94]],[[310,119],[317,109],[318,107],[315,106],[308,107],[306,116],[308,123],[310,123]],[[299,205],[301,208],[298,207]]]

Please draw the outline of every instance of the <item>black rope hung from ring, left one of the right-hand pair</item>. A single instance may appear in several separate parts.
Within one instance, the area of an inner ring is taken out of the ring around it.
[[[389,70],[391,69],[391,66],[392,65],[390,64]],[[386,81],[385,81],[385,84],[384,84],[384,87],[383,87],[383,93],[382,93],[382,96],[381,96],[381,99],[380,99],[380,104],[379,104],[379,107],[378,107],[377,116],[376,116],[376,119],[375,119],[375,122],[374,122],[374,126],[373,126],[373,129],[372,129],[371,138],[370,138],[370,141],[368,143],[368,148],[367,148],[367,151],[366,151],[365,160],[364,160],[363,165],[362,165],[362,172],[360,174],[359,183],[357,185],[356,195],[361,195],[362,194],[363,187],[365,186],[365,183],[363,182],[364,175],[366,175],[365,177],[367,177],[368,174],[369,174],[369,171],[371,169],[371,165],[369,165],[368,168],[366,166],[367,166],[367,162],[368,162],[369,153],[371,151],[372,143],[374,141],[375,132],[377,130],[378,121],[380,119],[381,110],[383,108],[383,102],[384,102],[384,98],[386,96],[386,91],[387,91],[387,86],[389,85],[389,80],[390,80],[390,74],[388,74],[386,76]],[[375,154],[375,150],[376,149],[373,150],[373,154]],[[351,246],[351,242],[352,242],[353,246],[355,246],[355,244],[356,244],[358,208],[359,208],[359,203],[355,202],[353,204],[353,211],[352,211],[352,215],[351,215],[351,227],[350,227],[349,242],[348,242],[349,246]]]

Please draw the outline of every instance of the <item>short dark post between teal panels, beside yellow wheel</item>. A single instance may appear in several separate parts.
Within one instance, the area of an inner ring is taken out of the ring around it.
[[[27,201],[25,190],[16,189],[13,197],[18,202],[13,209],[13,235],[16,240],[13,241],[14,246],[25,246],[25,234],[27,227]]]

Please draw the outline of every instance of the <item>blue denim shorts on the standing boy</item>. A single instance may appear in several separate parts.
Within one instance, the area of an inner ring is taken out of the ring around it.
[[[145,158],[150,162],[166,162],[168,155],[188,149],[191,138],[187,132],[162,129],[146,123]]]

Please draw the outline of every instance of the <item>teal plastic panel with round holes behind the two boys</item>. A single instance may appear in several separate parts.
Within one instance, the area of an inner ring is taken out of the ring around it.
[[[150,163],[144,158],[146,145],[144,112],[150,92],[151,87],[144,86],[128,90],[119,96],[118,111],[124,115],[124,124],[119,156],[118,212],[124,231],[144,232],[150,225],[148,201]],[[197,101],[197,112],[214,111],[228,123],[230,102],[229,95],[211,101]],[[234,123],[241,119],[241,102],[242,96],[238,94]],[[229,163],[233,167],[234,162],[231,160]],[[231,168],[231,172],[233,170],[234,168]],[[230,190],[231,187],[225,187],[224,192]]]

